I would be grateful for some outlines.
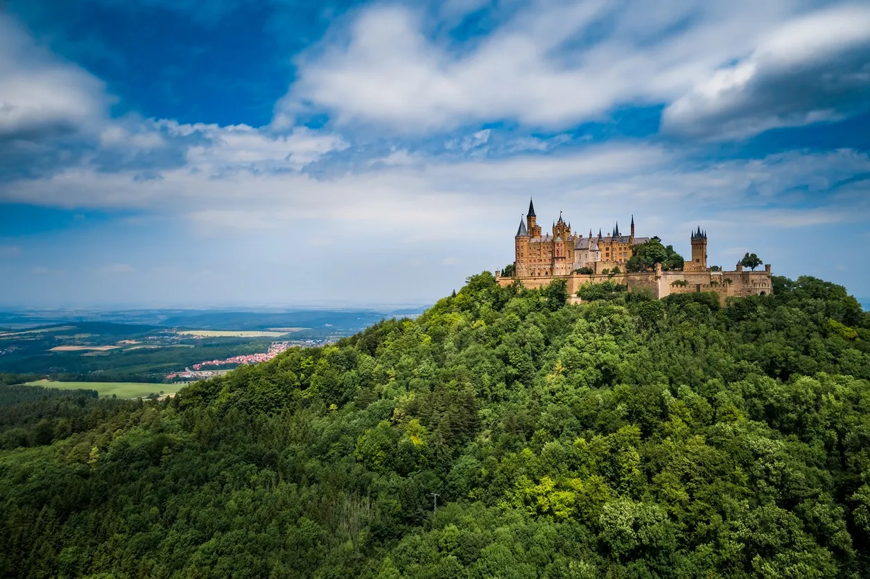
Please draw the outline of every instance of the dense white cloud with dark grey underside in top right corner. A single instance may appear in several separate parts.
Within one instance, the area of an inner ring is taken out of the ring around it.
[[[846,5],[782,24],[753,53],[667,107],[665,130],[741,138],[842,116],[870,101],[870,8]]]

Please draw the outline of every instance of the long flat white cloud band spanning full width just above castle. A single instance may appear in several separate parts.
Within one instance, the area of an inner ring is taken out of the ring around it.
[[[525,210],[528,196],[540,200],[544,222],[546,210],[565,210],[583,229],[609,227],[631,213],[645,215],[646,227],[682,225],[685,219],[674,223],[662,213],[678,209],[690,222],[719,216],[720,230],[847,223],[870,214],[870,182],[854,180],[867,172],[870,157],[853,150],[699,163],[673,150],[610,143],[563,155],[374,163],[328,178],[249,170],[218,178],[181,167],[137,180],[131,171],[66,170],[8,183],[0,200],[181,215],[203,233],[318,222],[366,238],[447,240],[498,234],[505,227],[499,223],[513,225]]]

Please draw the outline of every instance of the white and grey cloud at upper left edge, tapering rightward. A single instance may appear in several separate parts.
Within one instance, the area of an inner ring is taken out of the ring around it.
[[[137,171],[154,180],[186,165],[225,170],[300,170],[348,144],[305,127],[278,133],[244,124],[181,124],[136,114],[110,116],[104,83],[39,46],[0,14],[0,170],[32,177],[64,168]],[[0,193],[2,195],[2,193]],[[119,194],[123,196],[124,194]]]

